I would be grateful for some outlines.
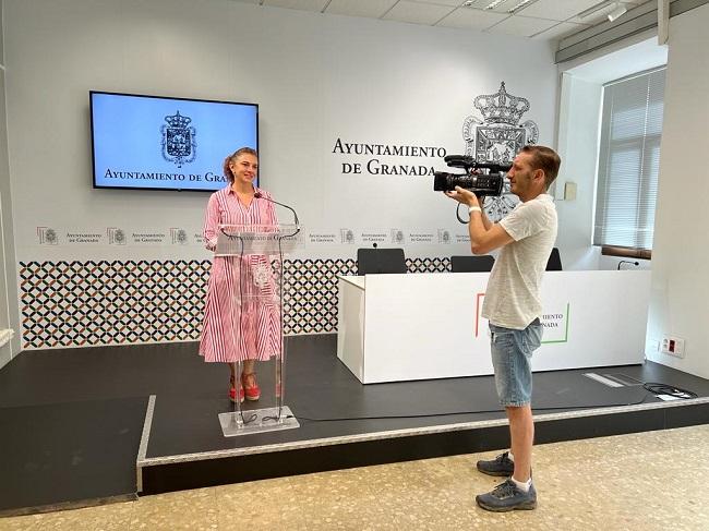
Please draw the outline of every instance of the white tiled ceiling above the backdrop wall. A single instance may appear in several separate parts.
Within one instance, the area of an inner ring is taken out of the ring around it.
[[[556,40],[605,21],[618,7],[657,0],[235,0],[348,16]],[[466,5],[467,4],[467,5]],[[584,16],[581,16],[584,15]]]

